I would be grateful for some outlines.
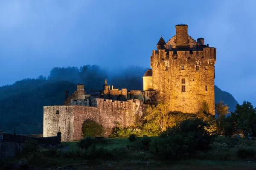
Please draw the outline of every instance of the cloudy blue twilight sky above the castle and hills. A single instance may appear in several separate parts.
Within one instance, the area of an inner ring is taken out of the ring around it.
[[[149,67],[183,23],[217,48],[215,85],[256,106],[255,21],[255,0],[1,0],[0,85],[54,67]]]

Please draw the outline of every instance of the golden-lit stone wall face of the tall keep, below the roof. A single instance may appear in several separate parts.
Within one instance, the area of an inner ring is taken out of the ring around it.
[[[201,51],[153,51],[151,56],[152,86],[171,111],[196,113],[205,100],[214,114],[214,64],[216,48]],[[184,70],[182,70],[184,65]],[[196,70],[196,67],[199,70]],[[168,70],[165,67],[168,67]],[[207,67],[207,68],[206,68]],[[185,79],[185,84],[182,84]],[[182,91],[185,85],[185,91]],[[207,86],[207,91],[206,91]]]

